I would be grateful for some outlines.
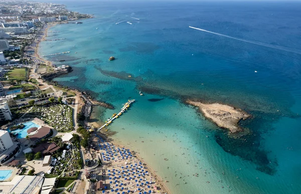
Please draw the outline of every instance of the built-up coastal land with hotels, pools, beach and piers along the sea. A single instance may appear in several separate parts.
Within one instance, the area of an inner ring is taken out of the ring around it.
[[[50,27],[92,17],[60,4],[0,1],[0,193],[170,193],[136,152],[107,140],[106,126],[134,100],[114,107],[60,86],[53,79],[72,67],[38,54]],[[88,121],[94,106],[121,111],[99,125]]]

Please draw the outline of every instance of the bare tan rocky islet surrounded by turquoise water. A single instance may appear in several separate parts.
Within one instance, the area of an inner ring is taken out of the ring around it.
[[[219,127],[227,128],[231,133],[242,131],[238,122],[249,118],[251,115],[247,114],[241,109],[233,108],[229,105],[213,103],[206,104],[202,102],[187,100],[188,104],[199,107],[199,110],[206,118],[211,119]]]

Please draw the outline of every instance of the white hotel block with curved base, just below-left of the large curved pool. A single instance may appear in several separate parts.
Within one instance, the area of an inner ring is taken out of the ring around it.
[[[0,130],[0,164],[11,162],[20,152],[20,141],[17,138],[12,139],[8,131]]]

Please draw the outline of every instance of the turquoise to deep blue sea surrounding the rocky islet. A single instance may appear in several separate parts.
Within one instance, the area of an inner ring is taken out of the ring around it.
[[[40,54],[71,52],[47,58],[74,70],[55,80],[112,103],[116,110],[94,109],[99,121],[136,99],[110,125],[112,138],[137,151],[172,193],[299,192],[300,3],[66,5],[95,18],[51,28],[59,33],[49,39],[66,40],[41,43]],[[244,109],[253,117],[241,125],[252,133],[229,137],[186,98]]]

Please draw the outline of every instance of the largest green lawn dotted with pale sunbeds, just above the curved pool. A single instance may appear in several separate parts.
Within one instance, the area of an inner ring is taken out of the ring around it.
[[[29,109],[31,109],[29,111]],[[39,118],[46,124],[59,132],[69,132],[73,130],[72,108],[64,104],[47,104],[43,106],[33,106],[18,109],[14,113],[22,115],[29,111],[23,118]]]

